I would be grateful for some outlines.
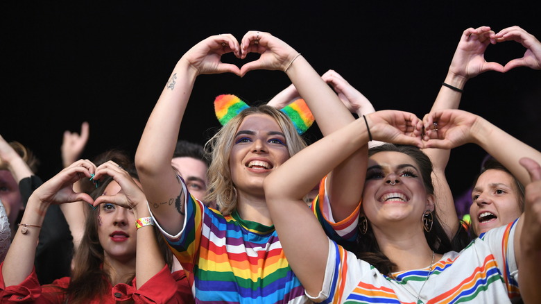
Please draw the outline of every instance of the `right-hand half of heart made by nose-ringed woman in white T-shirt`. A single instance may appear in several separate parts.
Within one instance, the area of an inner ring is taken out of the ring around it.
[[[424,116],[424,148],[452,149],[474,139],[479,116],[463,110],[440,110]]]

